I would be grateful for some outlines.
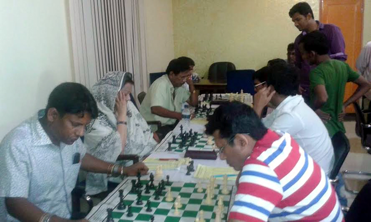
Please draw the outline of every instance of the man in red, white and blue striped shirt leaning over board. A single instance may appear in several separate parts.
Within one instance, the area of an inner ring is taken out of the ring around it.
[[[249,106],[220,106],[206,133],[220,158],[241,171],[229,222],[344,221],[324,170],[289,134],[267,129]]]

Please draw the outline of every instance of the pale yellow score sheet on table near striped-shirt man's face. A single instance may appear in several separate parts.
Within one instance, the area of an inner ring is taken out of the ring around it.
[[[196,172],[194,172],[194,177],[199,179],[210,179],[214,175],[224,175],[224,174],[238,174],[232,167],[209,167],[205,165],[198,164]],[[217,180],[223,180],[223,177],[217,177]],[[235,181],[236,177],[228,177],[228,180]]]

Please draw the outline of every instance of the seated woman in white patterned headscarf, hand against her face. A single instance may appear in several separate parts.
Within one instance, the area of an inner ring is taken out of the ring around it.
[[[88,152],[101,160],[115,162],[120,154],[142,158],[157,145],[157,135],[130,101],[133,85],[131,73],[109,72],[92,87],[99,114],[87,126],[84,143]],[[107,182],[104,174],[88,173],[87,194],[106,191]]]

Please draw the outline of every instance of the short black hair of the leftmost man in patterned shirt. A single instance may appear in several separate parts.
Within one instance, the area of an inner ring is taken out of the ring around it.
[[[85,112],[90,113],[93,119],[98,117],[93,95],[84,85],[76,82],[64,82],[55,87],[47,100],[46,111],[50,108],[55,108],[60,117],[66,113],[84,116]]]

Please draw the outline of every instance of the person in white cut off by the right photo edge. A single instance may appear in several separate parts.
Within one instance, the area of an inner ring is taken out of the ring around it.
[[[363,77],[371,82],[371,41],[367,42],[365,47],[361,50],[356,62],[356,68]],[[365,96],[371,100],[371,90],[369,90]]]

